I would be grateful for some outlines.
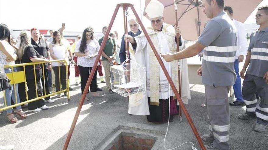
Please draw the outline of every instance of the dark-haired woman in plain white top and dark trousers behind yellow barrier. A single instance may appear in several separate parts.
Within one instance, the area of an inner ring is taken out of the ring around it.
[[[67,65],[69,65],[69,53],[67,48],[63,45],[61,41],[61,35],[60,32],[55,31],[53,32],[53,41],[49,44],[50,48],[50,55],[54,60],[57,59],[64,59],[67,62]],[[52,69],[55,73],[55,84],[56,84],[56,91],[60,91],[61,88],[64,90],[66,89],[66,68],[65,63],[63,61],[61,62],[52,62]],[[67,92],[64,92],[64,96],[68,96]],[[58,97],[61,97],[60,94],[58,94]]]

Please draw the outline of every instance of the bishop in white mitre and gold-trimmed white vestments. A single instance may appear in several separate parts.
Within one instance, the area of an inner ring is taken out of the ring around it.
[[[179,38],[180,50],[185,45],[180,35],[180,31],[176,30],[172,25],[164,23],[164,5],[157,0],[152,0],[146,7],[146,13],[150,17],[151,27],[146,28],[158,54],[161,53],[175,53],[177,51],[176,38]],[[176,37],[176,34],[179,36]],[[144,32],[137,36],[131,37],[125,35],[126,42],[130,42],[135,53],[136,61],[146,66],[146,96],[149,103],[150,115],[147,115],[149,122],[167,122],[169,115],[169,107],[171,107],[170,120],[173,115],[178,115],[178,106],[176,106],[176,97],[172,91],[162,68],[157,61],[156,56],[150,47]],[[177,90],[179,90],[178,79],[178,62],[164,62],[164,65],[171,76]],[[189,78],[187,59],[180,60],[180,74],[181,74],[181,98],[185,104],[190,99]],[[169,100],[171,101],[169,103]],[[177,103],[177,105],[179,105]]]

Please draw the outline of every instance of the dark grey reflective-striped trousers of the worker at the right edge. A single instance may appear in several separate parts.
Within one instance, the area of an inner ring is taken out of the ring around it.
[[[255,93],[260,97],[260,103],[257,104]],[[243,99],[249,115],[257,116],[257,122],[262,125],[268,125],[268,84],[265,79],[255,75],[245,75],[242,88]]]

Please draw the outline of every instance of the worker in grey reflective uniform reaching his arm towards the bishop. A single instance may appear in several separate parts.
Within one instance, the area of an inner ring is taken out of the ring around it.
[[[236,80],[234,71],[237,50],[237,32],[234,23],[224,12],[224,0],[203,0],[203,12],[210,21],[197,42],[181,52],[165,53],[167,61],[189,58],[203,49],[202,67],[197,71],[205,84],[205,98],[210,134],[202,139],[212,142],[205,147],[209,150],[229,150],[230,112],[228,92]],[[176,28],[177,30],[178,28]]]

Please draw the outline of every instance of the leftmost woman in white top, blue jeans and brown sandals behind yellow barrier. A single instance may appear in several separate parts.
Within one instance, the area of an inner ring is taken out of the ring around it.
[[[15,60],[17,59],[17,55],[15,52],[14,47],[10,44],[10,32],[9,28],[5,24],[0,24],[0,64],[2,65],[15,65]],[[16,67],[13,68],[13,71],[16,72]],[[12,72],[11,68],[5,68],[5,73]],[[16,88],[16,93],[14,88]],[[16,97],[15,98],[15,94]],[[20,103],[19,93],[18,93],[18,84],[11,85],[10,88],[5,89],[5,98],[6,98],[6,105],[11,105],[11,97],[12,100]],[[14,102],[15,103],[15,102]],[[21,109],[21,106],[17,106],[17,117],[25,119],[27,117],[26,114]],[[6,110],[6,116],[11,123],[16,123],[18,119],[13,115],[11,109]]]

